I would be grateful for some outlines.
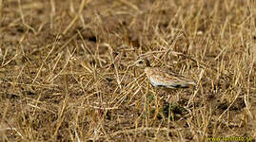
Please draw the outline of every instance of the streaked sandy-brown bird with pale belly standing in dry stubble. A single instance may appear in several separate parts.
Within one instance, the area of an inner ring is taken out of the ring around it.
[[[162,86],[166,88],[187,88],[196,85],[195,80],[187,79],[184,76],[169,71],[166,68],[151,67],[148,60],[141,59],[136,62],[136,66],[144,68],[148,80],[155,87]]]

